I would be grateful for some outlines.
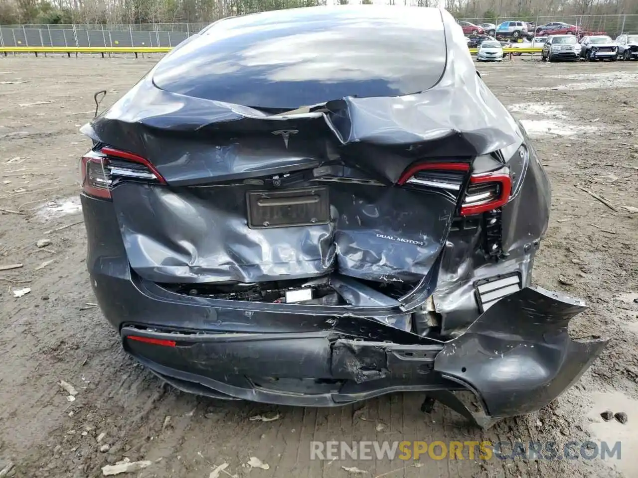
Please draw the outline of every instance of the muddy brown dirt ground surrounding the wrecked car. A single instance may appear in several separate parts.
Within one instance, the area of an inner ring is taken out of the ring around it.
[[[638,476],[638,62],[520,57],[477,66],[524,120],[551,177],[551,222],[535,282],[588,301],[572,335],[612,338],[554,403],[481,431],[440,405],[423,414],[421,394],[336,409],[189,396],[124,355],[94,307],[85,270],[78,157],[90,143],[78,128],[93,117],[95,91],[107,89],[104,105],[112,103],[157,59],[0,57],[0,266],[23,264],[0,272],[0,470],[94,477],[129,458],[152,462],[130,474],[139,477],[206,478],[223,463],[222,477]],[[50,245],[36,247],[40,239]],[[23,287],[31,292],[15,298]],[[60,380],[77,389],[75,401]],[[607,409],[627,412],[628,423],[605,423],[600,412]],[[279,418],[251,420],[256,415]],[[622,454],[605,461],[332,462],[309,460],[311,440],[620,440]],[[251,456],[269,469],[249,467]]]

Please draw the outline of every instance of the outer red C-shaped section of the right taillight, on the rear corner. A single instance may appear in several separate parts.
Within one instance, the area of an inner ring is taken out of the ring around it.
[[[471,175],[461,204],[461,215],[492,211],[505,205],[512,192],[512,178],[502,172]]]

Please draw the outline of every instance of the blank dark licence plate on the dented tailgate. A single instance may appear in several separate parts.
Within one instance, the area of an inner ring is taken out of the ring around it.
[[[248,191],[246,203],[251,229],[315,226],[330,221],[327,187]]]

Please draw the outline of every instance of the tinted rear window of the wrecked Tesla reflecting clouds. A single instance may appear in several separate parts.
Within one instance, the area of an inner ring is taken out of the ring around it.
[[[438,9],[300,8],[221,20],[160,61],[153,80],[197,98],[294,109],[424,91],[446,57]]]

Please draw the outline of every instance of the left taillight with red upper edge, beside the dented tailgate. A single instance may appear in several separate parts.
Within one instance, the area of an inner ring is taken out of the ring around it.
[[[166,184],[166,180],[147,159],[137,154],[103,147],[90,151],[80,161],[82,191],[96,198],[110,199],[118,180],[141,180]]]

